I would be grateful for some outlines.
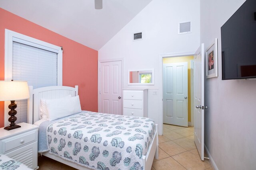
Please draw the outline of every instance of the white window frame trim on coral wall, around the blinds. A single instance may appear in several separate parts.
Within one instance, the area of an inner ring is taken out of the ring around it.
[[[28,37],[26,35],[16,33],[14,31],[5,29],[5,41],[4,41],[4,80],[12,80],[12,47],[13,40],[19,39],[26,45],[34,46],[37,48],[45,49],[48,51],[54,51],[57,53],[57,85],[62,86],[62,49],[56,45],[46,43],[44,41]],[[32,96],[30,96],[32,97]],[[8,112],[10,111],[8,105],[9,101],[4,102],[4,126],[10,124],[8,121]],[[32,120],[32,115],[28,115],[28,122]]]

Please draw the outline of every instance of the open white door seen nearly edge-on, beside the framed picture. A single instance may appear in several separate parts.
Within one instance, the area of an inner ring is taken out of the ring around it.
[[[204,44],[194,55],[194,141],[204,160]]]

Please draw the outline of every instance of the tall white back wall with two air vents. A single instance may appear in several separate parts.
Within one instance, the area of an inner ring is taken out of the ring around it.
[[[178,35],[178,23],[183,21],[191,21],[192,33]],[[133,33],[139,31],[143,33],[143,40],[133,41]],[[98,51],[98,59],[124,58],[123,88],[156,89],[157,95],[153,95],[150,90],[148,92],[148,117],[158,123],[159,108],[162,104],[159,97],[162,92],[159,76],[162,72],[160,55],[195,52],[199,42],[199,0],[152,0]],[[154,68],[154,85],[127,85],[128,70],[150,68]]]

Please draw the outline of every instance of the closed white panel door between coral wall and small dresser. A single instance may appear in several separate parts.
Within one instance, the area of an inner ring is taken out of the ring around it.
[[[100,63],[100,110],[101,113],[122,115],[122,63]]]

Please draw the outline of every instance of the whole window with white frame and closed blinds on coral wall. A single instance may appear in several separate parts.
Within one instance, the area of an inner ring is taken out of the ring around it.
[[[24,80],[33,88],[62,85],[61,47],[7,29],[5,43],[5,80]],[[16,102],[15,123],[32,119],[27,115],[27,100]],[[7,114],[9,103],[5,102],[5,125],[10,124]]]

